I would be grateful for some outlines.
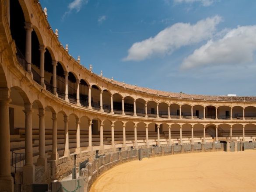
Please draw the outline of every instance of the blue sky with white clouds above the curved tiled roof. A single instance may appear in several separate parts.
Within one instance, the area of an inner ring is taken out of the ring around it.
[[[74,58],[188,94],[256,95],[255,0],[40,0]]]

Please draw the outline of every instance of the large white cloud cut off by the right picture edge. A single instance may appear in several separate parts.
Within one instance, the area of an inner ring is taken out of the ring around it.
[[[209,40],[182,62],[182,69],[199,66],[252,63],[256,51],[256,25],[238,26],[217,40]]]

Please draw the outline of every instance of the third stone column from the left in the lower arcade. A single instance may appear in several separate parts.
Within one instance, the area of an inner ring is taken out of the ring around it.
[[[39,108],[39,158],[37,159],[37,164],[46,167],[46,136],[45,136],[45,110],[44,108]]]

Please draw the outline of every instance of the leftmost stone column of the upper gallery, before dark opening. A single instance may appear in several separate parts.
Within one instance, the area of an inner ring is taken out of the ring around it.
[[[28,73],[32,73],[31,71],[31,61],[32,61],[32,25],[31,23],[25,22],[25,30],[26,30],[26,53],[25,58],[28,62]]]

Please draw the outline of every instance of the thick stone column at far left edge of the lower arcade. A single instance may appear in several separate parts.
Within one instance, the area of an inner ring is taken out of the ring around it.
[[[14,181],[11,176],[11,154],[10,154],[10,125],[9,125],[9,103],[10,90],[0,88],[0,189],[2,191],[14,191]]]

